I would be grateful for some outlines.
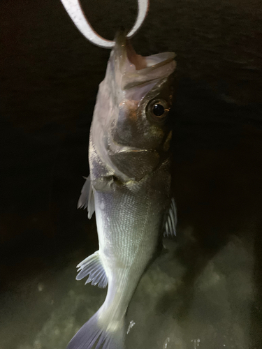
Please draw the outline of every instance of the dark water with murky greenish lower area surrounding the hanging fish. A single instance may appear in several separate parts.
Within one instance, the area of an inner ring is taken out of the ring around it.
[[[107,38],[136,17],[136,1],[83,6]],[[140,54],[177,54],[179,223],[131,301],[127,348],[262,346],[261,13],[257,0],[154,0],[133,38]],[[2,0],[0,19],[0,349],[62,349],[105,298],[74,279],[98,246],[76,204],[109,52],[58,0]]]

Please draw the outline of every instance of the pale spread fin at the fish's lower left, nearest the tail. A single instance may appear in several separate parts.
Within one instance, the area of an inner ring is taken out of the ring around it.
[[[99,288],[105,288],[108,284],[108,276],[106,276],[105,269],[103,269],[99,251],[82,260],[77,268],[78,275],[75,279],[82,280],[85,276],[89,275],[87,281],[85,281],[85,285],[92,281],[91,285],[98,285]]]

